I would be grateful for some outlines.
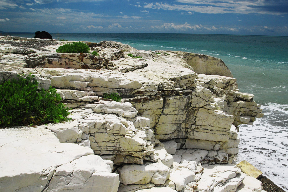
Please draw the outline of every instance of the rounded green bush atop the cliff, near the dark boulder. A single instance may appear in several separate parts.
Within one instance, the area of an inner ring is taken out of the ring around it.
[[[60,46],[57,53],[89,53],[89,47],[82,42],[72,42]]]

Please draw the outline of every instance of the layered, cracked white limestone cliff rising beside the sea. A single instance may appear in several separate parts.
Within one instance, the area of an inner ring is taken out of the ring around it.
[[[57,88],[73,119],[0,130],[9,138],[1,164],[19,147],[31,151],[0,166],[1,191],[236,191],[242,183],[245,174],[229,164],[238,126],[263,113],[220,59],[112,41],[86,42],[99,56],[56,53],[65,42],[52,39],[5,36],[0,43],[0,80],[35,74],[44,89]],[[112,92],[122,101],[102,98]],[[15,171],[23,159],[26,168]]]

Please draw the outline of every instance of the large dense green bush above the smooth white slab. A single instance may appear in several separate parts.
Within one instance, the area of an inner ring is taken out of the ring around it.
[[[68,108],[56,89],[37,88],[34,75],[0,82],[0,127],[67,121]]]

